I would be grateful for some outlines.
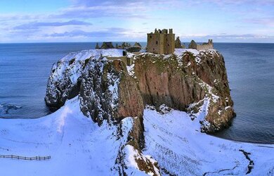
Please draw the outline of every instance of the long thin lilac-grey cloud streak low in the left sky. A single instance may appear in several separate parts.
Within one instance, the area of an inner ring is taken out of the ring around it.
[[[69,20],[66,22],[31,22],[23,25],[18,25],[13,27],[13,30],[34,30],[39,27],[57,27],[65,25],[92,25],[92,23],[87,23],[79,20]]]

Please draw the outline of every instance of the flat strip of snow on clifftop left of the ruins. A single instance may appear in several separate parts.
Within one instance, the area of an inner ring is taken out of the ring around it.
[[[86,58],[100,58],[100,56],[111,56],[119,57],[123,56],[123,49],[89,49],[82,50],[77,52],[72,52],[65,55],[60,61],[70,61],[72,58],[75,58],[76,61],[85,60]]]

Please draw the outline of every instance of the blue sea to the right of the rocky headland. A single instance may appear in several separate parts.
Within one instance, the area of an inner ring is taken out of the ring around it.
[[[215,44],[226,62],[237,117],[218,137],[274,144],[274,44]]]

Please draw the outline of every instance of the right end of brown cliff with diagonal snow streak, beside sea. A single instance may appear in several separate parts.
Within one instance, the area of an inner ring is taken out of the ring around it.
[[[187,52],[183,55],[183,62],[190,63],[184,72],[196,75],[202,80],[202,86],[211,99],[206,120],[210,127],[206,132],[215,132],[230,125],[230,120],[235,116],[233,101],[230,96],[228,77],[223,56],[215,50]]]

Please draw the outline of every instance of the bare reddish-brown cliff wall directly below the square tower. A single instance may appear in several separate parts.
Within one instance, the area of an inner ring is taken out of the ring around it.
[[[134,72],[145,104],[159,108],[163,103],[185,111],[190,103],[204,98],[197,80],[183,73],[176,56],[142,54],[136,56]]]

